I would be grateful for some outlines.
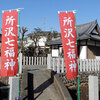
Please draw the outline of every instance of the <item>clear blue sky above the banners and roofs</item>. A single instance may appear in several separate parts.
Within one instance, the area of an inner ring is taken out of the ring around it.
[[[60,32],[58,11],[76,10],[76,24],[94,20],[100,25],[100,0],[0,0],[0,28],[2,10],[24,8],[20,11],[20,26],[27,27],[28,33],[34,28]]]

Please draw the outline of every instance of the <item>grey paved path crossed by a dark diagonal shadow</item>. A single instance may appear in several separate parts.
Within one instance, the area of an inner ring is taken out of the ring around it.
[[[33,87],[31,89],[34,90],[34,100],[61,100],[52,79],[44,71],[33,70],[29,71],[29,73],[33,75]]]

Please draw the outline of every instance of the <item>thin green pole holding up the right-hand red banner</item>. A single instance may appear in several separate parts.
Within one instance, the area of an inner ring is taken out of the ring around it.
[[[75,14],[75,29],[76,29],[76,37],[77,37],[77,27],[76,27],[76,11],[73,12]],[[77,44],[77,39],[76,39],[76,44]],[[77,44],[77,48],[78,48],[78,44]],[[78,59],[78,56],[77,56]],[[78,99],[80,100],[80,87],[79,87],[79,64],[77,64],[78,67],[78,75],[77,75],[77,94],[78,94]]]

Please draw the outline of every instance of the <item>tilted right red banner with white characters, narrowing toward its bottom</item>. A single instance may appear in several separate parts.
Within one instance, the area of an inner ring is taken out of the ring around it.
[[[67,79],[73,79],[77,77],[78,71],[75,15],[73,12],[60,12],[59,20]]]

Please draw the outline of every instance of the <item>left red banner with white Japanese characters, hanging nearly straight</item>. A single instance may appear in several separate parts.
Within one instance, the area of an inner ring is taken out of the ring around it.
[[[18,11],[3,12],[1,77],[18,73]]]

